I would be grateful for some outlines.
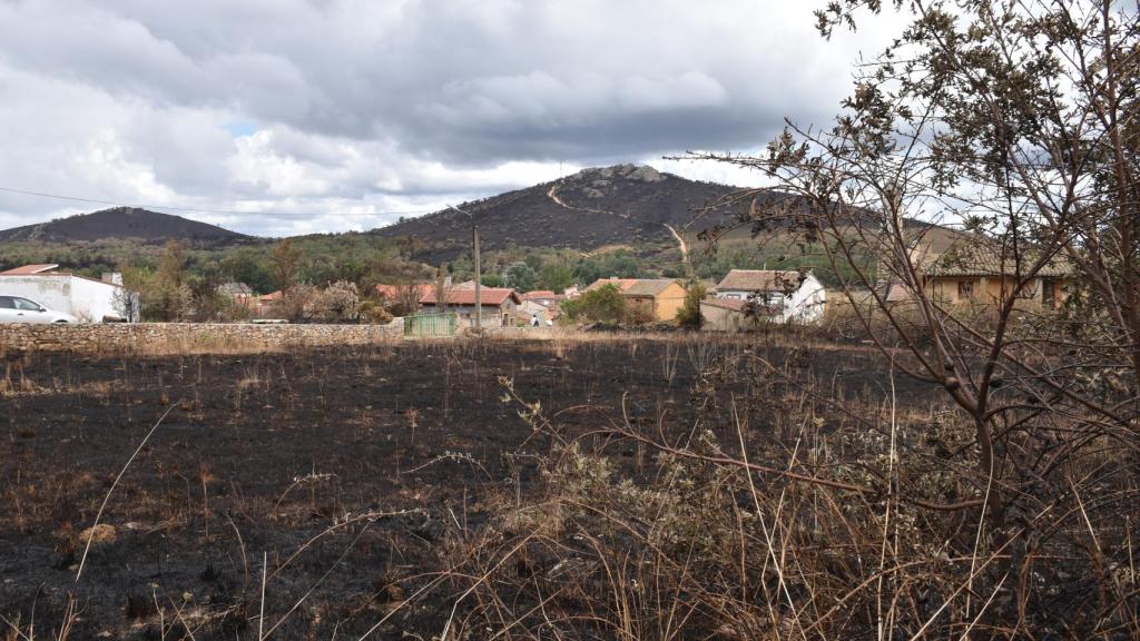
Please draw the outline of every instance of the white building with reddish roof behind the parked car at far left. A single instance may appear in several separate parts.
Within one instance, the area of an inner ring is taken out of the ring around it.
[[[25,265],[0,271],[0,294],[23,297],[89,323],[139,319],[139,295],[121,274],[103,279],[56,271],[58,265]]]

